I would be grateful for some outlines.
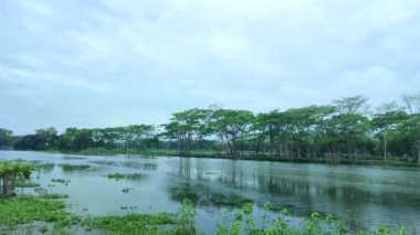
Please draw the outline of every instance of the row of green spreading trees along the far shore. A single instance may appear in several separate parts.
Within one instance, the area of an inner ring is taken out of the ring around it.
[[[271,156],[291,159],[384,159],[420,163],[420,92],[369,110],[367,98],[346,97],[329,105],[253,114],[212,105],[172,114],[168,124],[115,128],[54,128],[13,136],[0,129],[0,149],[177,149],[231,157]]]

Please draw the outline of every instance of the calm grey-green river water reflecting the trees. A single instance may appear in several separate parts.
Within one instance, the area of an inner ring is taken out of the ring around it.
[[[316,211],[353,229],[405,225],[420,234],[418,168],[0,151],[0,160],[12,159],[41,164],[33,181],[69,194],[70,212],[82,216],[176,212],[188,197],[198,204],[197,226],[206,234],[216,233],[233,202],[252,202],[255,213],[271,202],[275,210],[288,209],[294,223]],[[137,177],[106,177],[117,172]]]

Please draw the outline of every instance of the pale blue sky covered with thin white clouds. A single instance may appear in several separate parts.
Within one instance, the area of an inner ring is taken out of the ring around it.
[[[417,0],[2,0],[0,127],[162,124],[420,89]]]

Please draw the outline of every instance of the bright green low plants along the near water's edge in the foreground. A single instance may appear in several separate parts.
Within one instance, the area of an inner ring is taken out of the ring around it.
[[[120,210],[136,210],[137,206],[120,206]],[[300,226],[294,226],[287,220],[288,212],[282,210],[273,220],[267,213],[271,204],[265,203],[263,211],[256,214],[253,205],[245,203],[238,210],[228,210],[221,223],[217,225],[218,235],[315,235],[315,234],[359,234],[359,235],[406,235],[410,233],[403,226],[391,228],[379,226],[376,231],[348,231],[344,223],[332,215],[311,213],[302,218]],[[71,226],[95,234],[200,234],[196,231],[196,205],[183,200],[178,212],[174,214],[127,214],[124,216],[81,217],[65,212],[65,203],[61,200],[45,200],[35,196],[17,196],[11,200],[0,200],[0,233],[14,233],[18,225],[32,226],[31,234],[51,233],[66,234],[63,228]],[[78,231],[81,232],[81,231]]]

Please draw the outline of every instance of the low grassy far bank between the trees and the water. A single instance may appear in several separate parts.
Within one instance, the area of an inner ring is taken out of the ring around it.
[[[149,150],[127,150],[122,149],[85,149],[77,152],[63,152],[82,156],[146,156],[146,157],[182,157],[182,158],[208,158],[208,159],[231,159],[248,161],[272,161],[272,162],[293,162],[293,163],[315,163],[315,164],[354,164],[354,165],[384,165],[384,167],[412,167],[418,168],[417,161],[381,160],[381,159],[326,159],[326,158],[282,158],[277,156],[253,156],[245,154],[232,157],[214,151],[193,151],[188,156],[179,154],[176,150],[149,149]]]

